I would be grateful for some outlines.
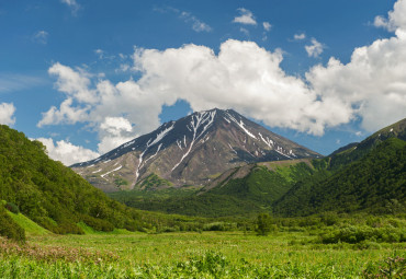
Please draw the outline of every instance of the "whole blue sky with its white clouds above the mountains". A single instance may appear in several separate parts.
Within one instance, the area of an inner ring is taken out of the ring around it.
[[[406,1],[0,1],[0,123],[65,164],[234,108],[322,154],[406,117]]]

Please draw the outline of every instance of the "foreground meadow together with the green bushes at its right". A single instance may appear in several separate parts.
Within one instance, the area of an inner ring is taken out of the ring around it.
[[[200,232],[114,230],[0,239],[0,278],[404,278],[406,221],[325,213]],[[226,231],[228,230],[228,231]]]

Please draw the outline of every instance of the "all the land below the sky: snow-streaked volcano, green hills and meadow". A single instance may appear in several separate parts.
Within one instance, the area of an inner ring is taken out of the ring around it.
[[[184,147],[165,124],[80,175],[0,126],[0,277],[403,278],[406,119],[322,156],[217,114],[190,116]]]

